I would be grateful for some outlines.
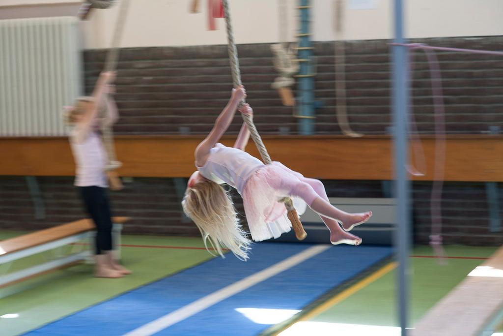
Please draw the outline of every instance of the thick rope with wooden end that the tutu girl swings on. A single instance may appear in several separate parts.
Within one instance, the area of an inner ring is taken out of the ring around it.
[[[239,59],[237,58],[237,48],[236,43],[234,41],[234,33],[232,30],[232,21],[230,17],[228,0],[223,0],[222,4],[224,9],[225,25],[227,29],[227,50],[229,53],[229,61],[231,65],[230,68],[232,72],[232,82],[234,87],[237,87],[242,84],[241,72],[239,70]],[[241,102],[241,104],[244,104],[244,100]],[[260,152],[262,160],[264,160],[264,162],[268,165],[271,164],[272,163],[271,157],[269,156],[266,146],[264,145],[264,142],[262,141],[262,138],[259,135],[259,131],[257,130],[257,127],[253,122],[253,118],[247,114],[241,114],[241,116],[243,117],[243,120],[250,131],[251,139],[253,139],[253,141],[255,142],[255,145],[257,146],[257,149]],[[307,234],[302,228],[302,224],[299,221],[297,211],[293,206],[292,199],[290,197],[285,197],[284,199],[282,199],[282,201],[288,210],[288,219],[292,222],[292,226],[293,229],[295,230],[295,235],[297,236],[297,239],[299,240],[304,239],[307,236]]]

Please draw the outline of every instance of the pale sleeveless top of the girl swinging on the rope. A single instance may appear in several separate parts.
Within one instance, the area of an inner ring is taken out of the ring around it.
[[[207,179],[218,184],[227,183],[242,194],[248,178],[264,166],[248,153],[218,143],[210,150],[204,167],[197,167],[197,170]]]

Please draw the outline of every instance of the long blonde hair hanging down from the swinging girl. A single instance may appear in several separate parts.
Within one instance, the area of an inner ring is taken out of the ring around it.
[[[223,246],[241,260],[248,258],[251,241],[239,225],[230,194],[221,185],[206,179],[196,183],[187,189],[182,207],[201,232],[208,252],[209,241],[222,257]]]

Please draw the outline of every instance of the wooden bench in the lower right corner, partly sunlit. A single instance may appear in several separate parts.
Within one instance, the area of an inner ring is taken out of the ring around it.
[[[412,336],[490,336],[503,318],[503,247],[433,307]]]

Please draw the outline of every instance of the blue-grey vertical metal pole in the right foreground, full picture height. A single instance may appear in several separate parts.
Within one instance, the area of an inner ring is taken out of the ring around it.
[[[405,43],[403,38],[403,1],[394,0],[395,43]],[[397,202],[395,246],[398,248],[398,316],[402,336],[407,334],[408,317],[408,254],[409,254],[409,181],[405,166],[408,159],[407,124],[409,115],[409,88],[407,48],[393,46],[393,142],[395,169],[395,197]]]

